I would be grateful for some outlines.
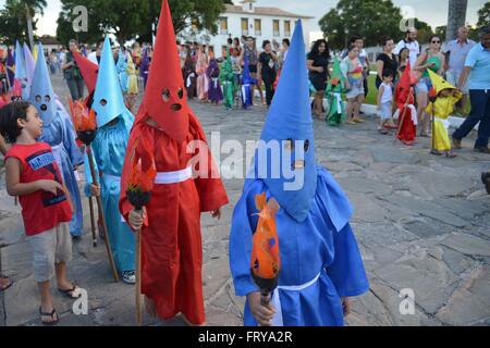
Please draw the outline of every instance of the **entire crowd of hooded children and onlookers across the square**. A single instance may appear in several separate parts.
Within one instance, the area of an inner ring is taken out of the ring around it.
[[[364,40],[353,37],[333,57],[328,42],[318,40],[306,53],[298,21],[291,42],[266,40],[259,52],[252,37],[230,38],[218,60],[206,45],[175,40],[168,1],[159,23],[155,51],[147,44],[119,47],[108,37],[90,52],[71,40],[62,57],[39,54],[44,52],[39,45],[30,69],[28,48],[15,47],[14,78],[2,94],[11,100],[3,100],[0,109],[0,151],[8,194],[19,197],[23,209],[41,299],[40,321],[46,325],[60,321],[50,291],[53,276],[66,297],[81,295],[66,276],[66,264],[72,258],[71,237],[76,240],[83,233],[76,172],[84,166],[85,195],[100,198],[103,206],[99,217],[107,221],[102,237],[111,250],[114,277],[120,274],[125,283],[140,286],[150,314],[167,320],[181,313],[191,325],[206,322],[200,213],[220,219],[229,200],[187,99],[223,101],[231,108],[238,94],[247,109],[257,89],[262,104],[271,107],[260,139],[282,141],[281,151],[304,149],[303,160],[279,156],[283,162],[279,165],[304,175],[304,185],[286,189],[291,177],[282,172],[279,178],[264,176],[277,159],[273,154],[262,159],[257,149],[230,234],[235,291],[247,299],[244,322],[343,325],[350,298],[366,293],[369,282],[350,225],[352,206],[332,175],[315,162],[311,114],[332,125],[364,122],[360,105],[371,65]],[[382,38],[383,52],[376,60],[379,130],[396,129],[400,140],[413,145],[420,124],[421,136],[432,133],[433,154],[454,157],[446,119],[469,92],[471,113],[453,134],[453,145],[461,145],[479,122],[475,149],[490,153],[490,29],[483,29],[476,44],[462,28],[458,39],[442,52],[440,37],[431,37],[424,52],[416,37],[411,29],[396,46],[392,38]],[[70,89],[72,117],[51,85],[50,73],[58,69]],[[443,79],[445,73],[450,82]],[[144,95],[136,111],[138,76]],[[91,138],[87,140],[83,132]],[[189,153],[193,141],[205,148]],[[198,169],[188,164],[195,158]],[[488,185],[488,174],[482,181]],[[272,243],[278,235],[280,250]],[[260,248],[264,245],[270,248]],[[285,260],[282,265],[279,258]],[[3,288],[12,285],[7,278],[1,282]]]

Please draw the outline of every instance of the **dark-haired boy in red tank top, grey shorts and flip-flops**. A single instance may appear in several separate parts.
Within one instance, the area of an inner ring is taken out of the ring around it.
[[[12,144],[5,154],[7,191],[21,202],[41,298],[40,320],[54,325],[59,322],[50,293],[54,273],[59,290],[68,297],[78,298],[81,288],[66,278],[66,262],[72,258],[71,200],[51,147],[36,141],[41,133],[42,121],[28,102],[0,109],[0,134]]]

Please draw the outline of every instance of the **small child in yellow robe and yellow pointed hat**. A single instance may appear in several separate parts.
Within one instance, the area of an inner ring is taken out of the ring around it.
[[[431,100],[426,110],[428,114],[433,116],[432,150],[430,153],[455,158],[456,154],[452,151],[449,137],[448,117],[454,111],[454,105],[460,101],[463,94],[433,72],[429,71],[429,75],[433,86],[431,94],[434,96],[434,100]]]

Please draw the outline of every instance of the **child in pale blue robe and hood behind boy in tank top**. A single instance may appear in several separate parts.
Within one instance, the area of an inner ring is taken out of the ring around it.
[[[79,237],[83,233],[82,200],[78,184],[74,171],[83,163],[83,154],[76,145],[76,135],[70,115],[64,108],[57,104],[57,96],[52,89],[45,55],[41,53],[42,45],[39,44],[39,57],[34,71],[33,84],[30,86],[29,101],[36,107],[42,119],[42,135],[39,141],[52,147],[54,158],[60,166],[63,181],[70,191],[75,212],[70,223],[70,233]]]

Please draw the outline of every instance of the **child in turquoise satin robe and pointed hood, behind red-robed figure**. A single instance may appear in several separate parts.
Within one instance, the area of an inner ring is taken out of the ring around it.
[[[89,185],[93,179],[88,159],[85,157],[85,176],[88,183],[85,192],[89,196],[100,191],[115,266],[125,283],[134,284],[134,233],[122,221],[119,212],[121,173],[134,116],[124,104],[109,37],[106,37],[103,44],[91,108],[97,114],[98,125],[91,150],[97,173],[100,173],[101,187],[99,190],[98,187]]]

